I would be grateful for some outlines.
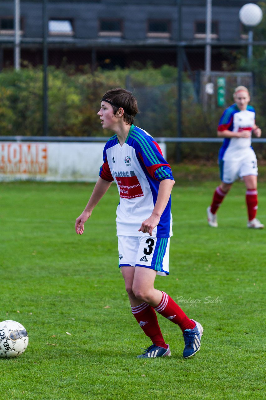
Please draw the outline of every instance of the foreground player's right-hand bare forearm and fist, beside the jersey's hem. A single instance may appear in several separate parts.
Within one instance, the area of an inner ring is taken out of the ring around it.
[[[152,231],[159,224],[161,215],[166,208],[174,184],[175,181],[172,179],[164,179],[160,182],[158,197],[152,215],[142,222],[138,232],[148,232],[152,236]]]

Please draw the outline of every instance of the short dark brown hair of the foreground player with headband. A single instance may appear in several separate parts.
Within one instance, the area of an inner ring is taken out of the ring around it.
[[[123,108],[126,124],[134,124],[133,118],[138,114],[138,103],[136,97],[131,92],[121,88],[111,89],[104,93],[101,101],[107,101],[111,104],[114,116],[119,108]]]

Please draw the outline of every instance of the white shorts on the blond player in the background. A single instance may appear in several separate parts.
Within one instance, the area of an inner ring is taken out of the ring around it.
[[[248,175],[258,175],[256,154],[252,149],[248,155],[241,160],[220,160],[220,178],[227,184],[233,183],[237,178]]]

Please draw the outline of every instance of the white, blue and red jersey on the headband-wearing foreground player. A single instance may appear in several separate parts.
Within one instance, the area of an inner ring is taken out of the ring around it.
[[[138,229],[152,214],[160,182],[173,180],[171,167],[156,140],[134,125],[122,146],[117,136],[112,136],[104,146],[99,176],[117,184],[120,195],[116,210],[117,235],[148,236]],[[152,236],[172,236],[171,197]]]

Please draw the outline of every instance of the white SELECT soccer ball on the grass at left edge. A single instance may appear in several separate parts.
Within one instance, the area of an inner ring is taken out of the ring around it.
[[[0,357],[20,356],[28,342],[28,333],[22,324],[12,320],[0,322]]]

